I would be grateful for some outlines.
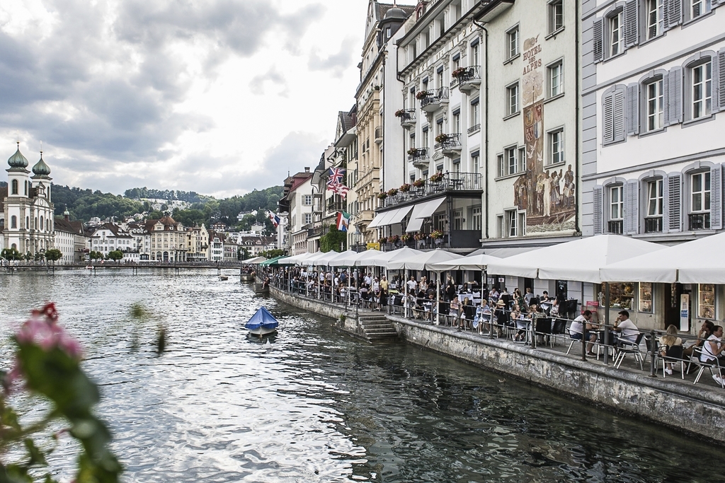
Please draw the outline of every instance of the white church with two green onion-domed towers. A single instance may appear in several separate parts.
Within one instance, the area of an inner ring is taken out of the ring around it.
[[[50,168],[41,158],[28,171],[28,159],[17,151],[10,156],[8,185],[0,188],[0,249],[15,248],[35,255],[53,248],[53,203],[51,203]]]

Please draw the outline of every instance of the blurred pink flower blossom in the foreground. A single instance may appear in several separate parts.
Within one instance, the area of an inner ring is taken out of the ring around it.
[[[80,343],[58,325],[58,312],[53,302],[41,310],[34,310],[15,337],[20,344],[35,344],[43,350],[59,348],[68,356],[80,359]]]

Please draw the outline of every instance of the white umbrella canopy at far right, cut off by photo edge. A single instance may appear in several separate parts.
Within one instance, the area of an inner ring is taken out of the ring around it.
[[[605,282],[725,284],[725,233],[602,267]]]

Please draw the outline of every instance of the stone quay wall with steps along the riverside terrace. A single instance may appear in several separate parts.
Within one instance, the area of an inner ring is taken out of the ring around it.
[[[405,343],[725,445],[725,390],[714,384],[708,371],[695,385],[693,374],[684,380],[677,373],[663,378],[659,369],[658,375],[651,377],[648,359],[644,369],[631,357],[625,358],[618,369],[596,358],[582,361],[576,355],[576,345],[572,353],[566,354],[568,337],[559,337],[553,348],[531,348],[504,337],[489,338],[487,334],[458,332],[453,327],[384,312],[346,308],[278,287],[270,286],[270,295],[291,306],[331,317],[336,327],[361,338],[368,338],[366,319],[378,314]],[[581,424],[586,426],[587,421]]]

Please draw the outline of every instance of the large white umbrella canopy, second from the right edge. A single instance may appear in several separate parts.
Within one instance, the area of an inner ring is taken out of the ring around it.
[[[487,268],[498,275],[599,283],[603,266],[662,248],[621,235],[597,235],[492,261]]]

